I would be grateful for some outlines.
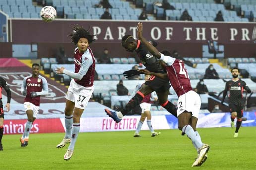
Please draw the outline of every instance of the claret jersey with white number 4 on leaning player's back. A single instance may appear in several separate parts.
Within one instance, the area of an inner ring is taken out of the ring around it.
[[[190,78],[182,60],[161,54],[161,59],[166,63],[166,71],[174,91],[180,97],[181,95],[193,90],[190,84]]]

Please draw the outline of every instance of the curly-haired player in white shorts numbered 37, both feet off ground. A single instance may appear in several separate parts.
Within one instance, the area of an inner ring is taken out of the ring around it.
[[[72,42],[77,46],[74,50],[75,72],[70,72],[64,67],[57,68],[57,74],[66,74],[73,78],[66,94],[65,127],[66,134],[62,142],[56,147],[62,148],[67,143],[71,144],[64,155],[64,160],[69,160],[74,152],[75,142],[80,131],[80,118],[86,108],[94,90],[95,58],[89,44],[95,41],[95,35],[89,33],[80,25],[71,27]]]

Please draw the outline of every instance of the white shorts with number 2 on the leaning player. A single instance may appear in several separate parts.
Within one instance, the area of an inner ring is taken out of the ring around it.
[[[191,112],[192,116],[198,118],[201,108],[201,98],[195,91],[189,91],[181,95],[177,103],[177,116],[184,111]]]

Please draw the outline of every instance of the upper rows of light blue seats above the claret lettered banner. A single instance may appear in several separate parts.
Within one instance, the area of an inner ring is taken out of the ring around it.
[[[109,0],[113,8],[110,14],[113,19],[136,20],[144,8],[149,20],[179,20],[181,13],[187,9],[193,21],[213,22],[219,10],[224,21],[255,21],[256,1],[225,0],[217,4],[214,0],[168,0],[175,10],[164,10],[155,5],[156,0],[135,0],[134,4],[123,0]],[[99,19],[103,8],[97,8],[99,0],[46,0],[44,5],[54,6],[59,18]],[[40,18],[42,2],[32,0],[0,0],[0,10],[13,18]],[[135,8],[133,7],[135,6]],[[228,10],[231,9],[231,10]]]

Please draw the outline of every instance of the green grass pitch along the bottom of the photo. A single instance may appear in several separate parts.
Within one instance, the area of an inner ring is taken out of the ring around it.
[[[151,137],[133,137],[134,131],[80,133],[73,157],[65,161],[67,146],[57,149],[63,133],[31,134],[21,148],[21,135],[4,135],[0,170],[256,170],[256,127],[241,127],[238,138],[231,128],[200,128],[210,145],[208,160],[191,167],[197,153],[192,142],[175,130]]]

